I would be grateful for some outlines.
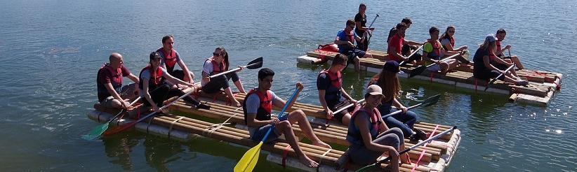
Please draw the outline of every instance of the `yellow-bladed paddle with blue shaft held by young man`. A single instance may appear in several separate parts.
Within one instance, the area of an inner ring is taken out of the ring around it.
[[[289,100],[286,101],[286,104],[284,104],[284,107],[282,108],[281,112],[279,113],[279,118],[282,115],[284,115],[284,110],[286,110],[286,108],[289,106],[289,102],[293,101],[293,98],[295,97],[296,92],[298,92],[298,88],[295,89],[295,92],[293,92],[293,95],[291,96],[291,98],[289,98]],[[267,134],[265,134],[265,137],[263,137],[263,140],[260,141],[260,143],[258,143],[258,145],[256,145],[255,147],[251,148],[250,150],[246,151],[246,153],[244,153],[242,158],[239,160],[239,163],[237,163],[237,165],[234,166],[234,172],[253,171],[254,166],[256,166],[256,162],[258,162],[258,155],[260,154],[260,147],[263,146],[263,142],[267,139],[268,134],[270,134],[270,131],[272,131],[272,129],[274,129],[274,126],[270,127],[270,129],[268,129]]]

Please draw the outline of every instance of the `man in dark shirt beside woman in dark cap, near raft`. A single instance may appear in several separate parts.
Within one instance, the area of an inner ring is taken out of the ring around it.
[[[354,106],[340,111],[340,113],[333,113],[333,111],[351,103],[355,106],[357,105],[357,101],[352,99],[342,87],[343,78],[341,77],[342,74],[340,71],[345,69],[345,67],[347,67],[347,56],[340,53],[337,54],[333,59],[331,67],[321,71],[319,76],[317,76],[317,89],[319,90],[319,101],[326,113],[326,119],[330,120],[335,117],[338,122],[348,125],[350,121],[349,112],[354,110]]]

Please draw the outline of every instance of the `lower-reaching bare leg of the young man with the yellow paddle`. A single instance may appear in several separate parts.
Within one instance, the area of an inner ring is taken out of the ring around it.
[[[293,129],[291,129],[291,123],[290,122],[281,121],[281,122],[279,122],[279,124],[277,124],[276,127],[274,127],[274,129],[277,129],[277,131],[279,131],[279,133],[284,134],[286,141],[289,142],[289,145],[291,145],[293,150],[295,150],[296,155],[298,155],[298,161],[300,163],[305,164],[305,166],[308,166],[311,168],[315,168],[315,167],[319,166],[319,163],[314,162],[312,159],[307,157],[307,155],[305,155],[305,152],[303,152],[303,150],[300,149],[300,146],[298,145],[298,141],[296,140],[296,136],[293,132]]]

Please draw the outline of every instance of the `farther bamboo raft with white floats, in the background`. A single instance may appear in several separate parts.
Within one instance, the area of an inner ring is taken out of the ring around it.
[[[361,58],[361,70],[378,73],[383,64],[388,59],[385,52],[369,50],[373,58]],[[297,57],[297,62],[301,64],[322,64],[331,61],[338,52],[328,52],[325,50],[312,50],[307,52],[307,55]],[[349,65],[352,68],[352,65]],[[401,66],[404,74],[399,74],[399,77],[409,78],[409,73],[418,65],[407,64]],[[526,77],[529,84],[526,86],[517,86],[510,83],[505,83],[502,80],[496,80],[487,92],[495,92],[498,94],[508,94],[509,101],[519,101],[524,103],[532,103],[540,106],[546,106],[553,94],[561,89],[561,80],[563,75],[561,73],[552,73],[548,71],[533,71],[522,69],[516,71],[519,76]],[[455,85],[456,87],[464,87],[467,89],[483,90],[489,83],[489,80],[479,80],[473,77],[472,66],[459,66],[453,71],[449,71],[445,75],[436,71],[424,71],[419,76],[415,76],[421,80],[430,80],[431,83],[444,83],[448,85]]]

